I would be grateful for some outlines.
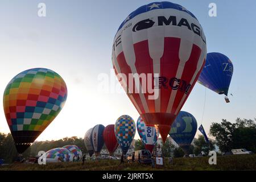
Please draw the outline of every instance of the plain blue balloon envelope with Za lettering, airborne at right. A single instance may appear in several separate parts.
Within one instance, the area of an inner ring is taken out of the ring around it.
[[[222,53],[210,52],[198,82],[218,94],[228,96],[232,75],[233,64],[230,59]]]

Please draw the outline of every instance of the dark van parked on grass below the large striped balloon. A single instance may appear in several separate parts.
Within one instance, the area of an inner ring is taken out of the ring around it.
[[[151,154],[149,150],[137,150],[131,152],[129,156],[127,156],[128,163],[131,162],[139,162],[142,164],[151,163]]]

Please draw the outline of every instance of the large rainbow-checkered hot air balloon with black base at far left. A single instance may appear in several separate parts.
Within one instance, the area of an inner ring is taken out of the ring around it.
[[[63,78],[50,69],[28,69],[9,82],[3,94],[3,107],[19,153],[60,113],[66,99],[67,86]]]

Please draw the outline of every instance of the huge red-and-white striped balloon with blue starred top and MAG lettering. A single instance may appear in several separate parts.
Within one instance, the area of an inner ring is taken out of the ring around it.
[[[159,128],[163,142],[203,69],[206,54],[199,21],[175,3],[141,6],[118,28],[112,49],[115,75],[144,122]]]

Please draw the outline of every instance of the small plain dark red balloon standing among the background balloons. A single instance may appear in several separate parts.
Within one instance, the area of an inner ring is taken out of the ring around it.
[[[114,128],[115,125],[108,125],[103,131],[103,138],[105,145],[108,148],[109,155],[113,155],[118,146],[117,138],[115,138]]]

